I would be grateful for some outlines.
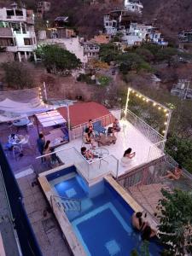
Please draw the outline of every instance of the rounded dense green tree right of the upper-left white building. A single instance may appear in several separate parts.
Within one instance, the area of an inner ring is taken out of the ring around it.
[[[81,65],[76,55],[55,44],[39,46],[36,53],[48,72],[67,74]]]

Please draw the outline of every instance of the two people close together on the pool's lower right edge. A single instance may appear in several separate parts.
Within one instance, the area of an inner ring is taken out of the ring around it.
[[[131,223],[136,230],[141,232],[142,239],[149,241],[150,238],[157,235],[157,231],[150,227],[146,218],[147,212],[145,214],[143,212],[134,212]]]

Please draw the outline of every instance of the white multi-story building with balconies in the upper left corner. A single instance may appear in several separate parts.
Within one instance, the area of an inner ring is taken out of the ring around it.
[[[0,48],[22,61],[27,60],[36,47],[33,11],[20,9],[16,4],[10,9],[0,9]]]

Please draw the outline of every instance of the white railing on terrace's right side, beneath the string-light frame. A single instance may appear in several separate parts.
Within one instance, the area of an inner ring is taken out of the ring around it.
[[[151,143],[160,143],[164,140],[164,137],[160,135],[158,131],[155,131],[154,128],[145,123],[143,119],[137,117],[137,115],[132,113],[129,109],[127,109],[125,119],[127,119],[131,125],[135,126],[137,130],[141,131],[144,137],[147,137]]]

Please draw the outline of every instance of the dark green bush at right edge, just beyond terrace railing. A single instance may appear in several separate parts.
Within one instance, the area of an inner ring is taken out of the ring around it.
[[[168,137],[166,153],[192,173],[192,141],[187,138]]]

